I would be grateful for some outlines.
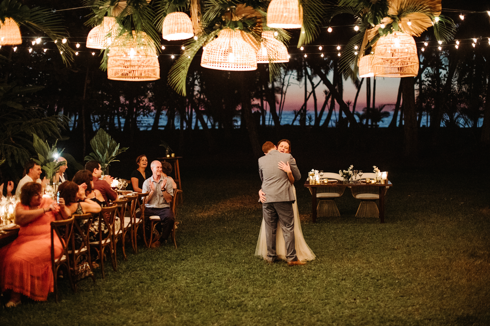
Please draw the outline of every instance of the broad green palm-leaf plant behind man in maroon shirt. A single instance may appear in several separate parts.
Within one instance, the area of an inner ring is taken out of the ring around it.
[[[112,162],[119,162],[119,160],[116,159],[116,156],[128,149],[128,147],[120,149],[119,146],[121,146],[121,144],[118,144],[103,129],[99,129],[94,138],[90,140],[90,146],[94,152],[85,156],[85,161],[98,161],[104,174],[107,174],[109,165]]]

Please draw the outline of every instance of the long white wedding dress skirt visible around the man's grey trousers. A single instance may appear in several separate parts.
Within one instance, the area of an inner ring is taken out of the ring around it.
[[[305,239],[303,238],[303,231],[301,231],[301,222],[299,221],[299,213],[298,213],[298,205],[296,200],[296,189],[294,185],[290,184],[290,187],[293,187],[294,192],[294,204],[293,204],[293,212],[294,212],[294,249],[296,249],[296,257],[298,261],[312,261],[315,259],[315,254],[306,244]],[[255,249],[255,256],[260,256],[264,260],[267,260],[267,241],[266,241],[266,233],[264,232],[266,227],[266,222],[264,218],[262,218],[262,225],[260,227],[259,240],[257,241],[257,248]],[[282,260],[286,260],[286,245],[284,244],[284,237],[282,234],[282,229],[277,222],[277,231],[276,231],[276,255],[278,258]]]

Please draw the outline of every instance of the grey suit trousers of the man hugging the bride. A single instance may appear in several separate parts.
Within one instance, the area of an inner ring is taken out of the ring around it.
[[[291,201],[276,201],[262,204],[262,214],[266,224],[267,260],[277,259],[275,241],[277,221],[282,229],[284,243],[286,246],[286,260],[297,261],[294,249],[294,213]]]

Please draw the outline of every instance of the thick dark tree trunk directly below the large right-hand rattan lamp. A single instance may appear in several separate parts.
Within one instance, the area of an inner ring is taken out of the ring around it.
[[[404,155],[416,157],[418,149],[417,111],[415,108],[415,79],[414,77],[401,78],[403,84],[403,110],[404,110]]]

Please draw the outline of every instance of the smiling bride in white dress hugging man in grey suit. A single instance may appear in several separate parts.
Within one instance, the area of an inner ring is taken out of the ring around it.
[[[277,143],[277,150],[283,153],[291,153],[291,142],[287,139],[280,140]],[[279,168],[284,172],[291,174],[291,168],[289,164],[281,164],[279,163]],[[294,178],[290,177],[290,180],[294,181]],[[290,187],[293,188],[294,192],[294,204],[293,204],[293,212],[294,212],[294,249],[296,250],[296,256],[298,261],[312,261],[315,259],[315,254],[306,244],[305,239],[303,238],[303,232],[301,231],[301,223],[299,221],[298,214],[298,205],[296,200],[296,190],[292,182],[289,184]],[[262,190],[261,190],[262,192]],[[255,249],[255,256],[261,256],[264,260],[267,260],[267,242],[266,242],[266,233],[265,229],[265,221],[262,218],[262,225],[260,227],[259,240],[257,241],[257,248]],[[282,234],[282,229],[280,227],[277,228],[276,231],[276,255],[278,258],[282,260],[286,260],[286,249],[284,244],[284,237]]]

